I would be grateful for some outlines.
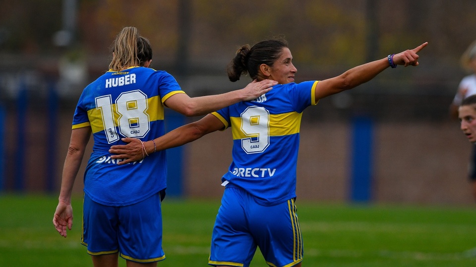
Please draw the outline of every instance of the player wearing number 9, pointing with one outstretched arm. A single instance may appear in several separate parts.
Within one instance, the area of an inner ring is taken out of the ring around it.
[[[167,149],[205,134],[232,129],[233,162],[222,177],[225,190],[212,233],[209,265],[248,267],[259,247],[269,266],[301,266],[302,238],[296,215],[296,168],[302,112],[331,94],[352,89],[388,67],[417,66],[427,45],[389,55],[322,81],[295,83],[296,67],[287,43],[268,40],[243,45],[228,67],[232,82],[248,73],[258,81],[272,79],[273,90],[236,103],[201,120],[142,143],[124,139],[112,158],[119,164],[143,159],[143,153]],[[142,152],[144,151],[144,152]],[[146,158],[147,159],[147,158]]]

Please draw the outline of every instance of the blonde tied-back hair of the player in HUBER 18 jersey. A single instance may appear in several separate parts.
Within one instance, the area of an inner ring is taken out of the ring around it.
[[[113,59],[111,70],[123,70],[133,66],[143,66],[152,59],[152,47],[149,40],[139,35],[135,27],[124,27],[116,36],[111,47]]]

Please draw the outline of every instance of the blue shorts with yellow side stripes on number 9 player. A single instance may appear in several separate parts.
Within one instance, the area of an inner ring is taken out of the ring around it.
[[[303,248],[294,199],[261,206],[246,191],[226,187],[213,227],[211,266],[248,267],[259,247],[269,266],[294,266]]]

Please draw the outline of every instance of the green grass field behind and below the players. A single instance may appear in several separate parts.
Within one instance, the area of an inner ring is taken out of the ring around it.
[[[0,195],[0,266],[92,266],[79,243],[82,199],[67,238],[52,224],[56,196]],[[207,266],[219,200],[163,203],[161,267]],[[297,213],[307,267],[474,267],[476,207],[301,203]],[[125,262],[119,260],[119,266]],[[266,266],[259,251],[252,267]]]

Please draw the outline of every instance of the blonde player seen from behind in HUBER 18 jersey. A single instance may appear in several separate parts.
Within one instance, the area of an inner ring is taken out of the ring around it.
[[[81,243],[96,267],[118,266],[119,256],[128,267],[152,267],[165,259],[161,215],[167,186],[165,151],[119,166],[119,160],[111,159],[110,146],[123,144],[121,137],[147,141],[163,135],[164,106],[186,116],[204,115],[255,99],[276,82],[253,82],[244,89],[190,98],[170,74],[149,68],[152,48],[136,28],[123,28],[112,48],[110,70],[83,90],[76,106],[53,224],[64,237],[71,229],[73,183],[93,134],[93,152],[84,174]]]

